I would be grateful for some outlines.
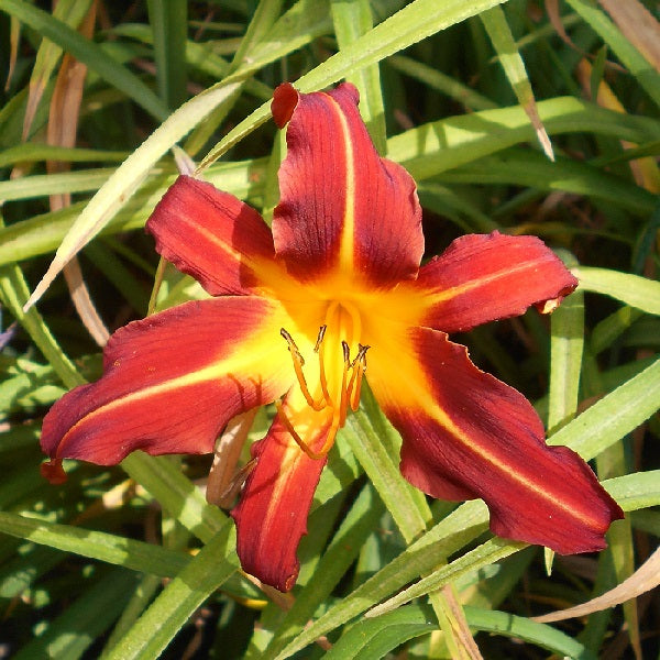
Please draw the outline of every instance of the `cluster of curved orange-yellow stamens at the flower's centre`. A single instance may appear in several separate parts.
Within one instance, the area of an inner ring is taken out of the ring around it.
[[[331,306],[327,317],[330,319],[333,316],[337,317],[337,311]],[[339,318],[341,319],[341,311]],[[318,364],[316,365],[318,371],[315,370],[318,382],[315,383],[311,389],[302,369],[305,366],[305,358],[298,349],[296,341],[285,328],[282,328],[279,331],[288,344],[298,386],[307,405],[316,411],[327,409],[331,409],[332,411],[332,421],[326,441],[319,451],[315,451],[311,449],[309,442],[296,431],[284,410],[282,402],[276,402],[275,404],[282,424],[298,447],[314,460],[323,459],[332,448],[332,444],[334,444],[337,432],[345,424],[348,408],[350,407],[351,410],[355,411],[360,406],[362,380],[366,371],[366,352],[370,346],[358,343],[358,349],[352,358],[349,341],[345,339],[337,341],[338,327],[343,329],[342,326],[342,323],[333,323],[333,331],[331,332],[328,332],[327,323],[319,328],[314,346],[314,354],[318,360]],[[353,323],[352,329],[356,329],[355,323]],[[328,334],[330,334],[330,338],[328,338]]]

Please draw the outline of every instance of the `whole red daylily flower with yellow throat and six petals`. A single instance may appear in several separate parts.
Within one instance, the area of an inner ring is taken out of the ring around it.
[[[105,375],[44,419],[51,476],[63,458],[208,453],[231,418],[276,402],[232,516],[244,570],[288,591],[321,470],[366,377],[403,437],[411,484],[483,497],[503,537],[560,553],[604,548],[620,508],[578,454],[546,446],[529,402],[447,334],[531,305],[550,311],[575,278],[539,239],[497,232],[460,238],[420,267],[415,184],[377,155],[355,88],[285,84],[272,109],[288,124],[272,232],[233,196],[177,179],[147,230],[211,298],[113,334]]]

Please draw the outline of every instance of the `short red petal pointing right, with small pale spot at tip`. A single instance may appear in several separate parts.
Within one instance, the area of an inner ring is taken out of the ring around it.
[[[428,292],[424,324],[444,332],[518,316],[530,305],[552,311],[576,286],[540,239],[496,231],[457,239],[420,268],[415,283]]]

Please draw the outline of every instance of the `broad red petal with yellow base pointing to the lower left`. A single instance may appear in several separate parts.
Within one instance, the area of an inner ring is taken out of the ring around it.
[[[105,375],[44,418],[44,452],[110,465],[135,450],[212,451],[230,418],[290,386],[280,324],[280,308],[256,297],[191,301],[129,323],[106,348]]]

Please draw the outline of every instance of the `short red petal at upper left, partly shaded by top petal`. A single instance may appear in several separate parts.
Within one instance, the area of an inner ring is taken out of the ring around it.
[[[250,294],[273,266],[273,237],[246,204],[211,184],[179,176],[146,222],[156,250],[212,296]]]

